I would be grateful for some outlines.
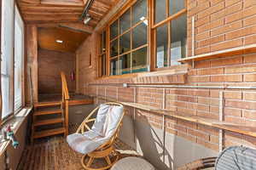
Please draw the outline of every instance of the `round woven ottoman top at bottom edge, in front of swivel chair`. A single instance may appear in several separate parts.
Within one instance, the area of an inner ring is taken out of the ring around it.
[[[139,157],[125,157],[116,162],[111,170],[154,170],[154,167]]]

